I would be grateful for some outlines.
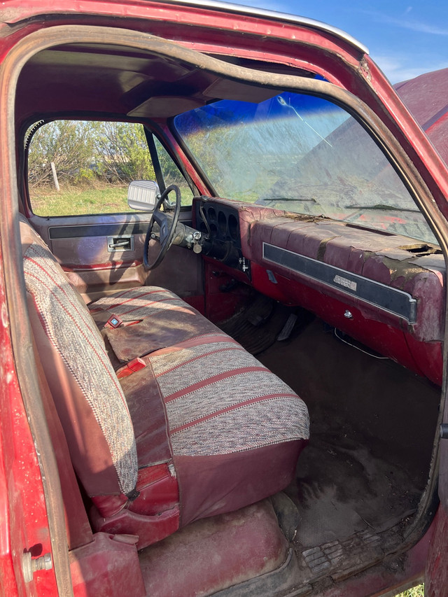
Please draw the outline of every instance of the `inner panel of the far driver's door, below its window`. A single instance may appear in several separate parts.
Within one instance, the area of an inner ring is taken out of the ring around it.
[[[151,272],[143,266],[143,250],[149,214],[122,213],[97,216],[41,218],[31,216],[31,225],[47,242],[73,286],[85,302],[109,293],[154,285],[169,288],[182,297],[203,303],[202,259],[186,248],[172,247],[161,265]],[[191,214],[181,213],[188,224]],[[111,242],[113,241],[113,242]],[[119,245],[126,242],[125,250]],[[159,245],[151,242],[151,251]]]

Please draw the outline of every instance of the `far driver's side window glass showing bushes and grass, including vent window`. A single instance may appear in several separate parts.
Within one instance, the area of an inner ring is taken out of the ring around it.
[[[191,204],[185,178],[159,146],[162,172],[176,173],[172,179],[182,183],[183,204]],[[131,211],[127,185],[133,180],[155,180],[143,125],[55,120],[31,136],[28,188],[38,216]]]

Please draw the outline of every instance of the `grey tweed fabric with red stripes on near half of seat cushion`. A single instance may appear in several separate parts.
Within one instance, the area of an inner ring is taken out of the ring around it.
[[[176,456],[230,454],[309,437],[304,402],[230,338],[153,353],[149,360]]]

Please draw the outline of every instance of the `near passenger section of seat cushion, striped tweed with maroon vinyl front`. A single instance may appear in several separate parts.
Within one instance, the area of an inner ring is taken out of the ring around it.
[[[219,330],[148,360],[167,412],[181,525],[288,485],[309,419],[281,379]]]

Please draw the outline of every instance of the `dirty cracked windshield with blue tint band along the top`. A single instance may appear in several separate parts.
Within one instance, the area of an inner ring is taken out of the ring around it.
[[[289,92],[221,100],[174,126],[220,197],[436,242],[384,153],[330,101]]]

